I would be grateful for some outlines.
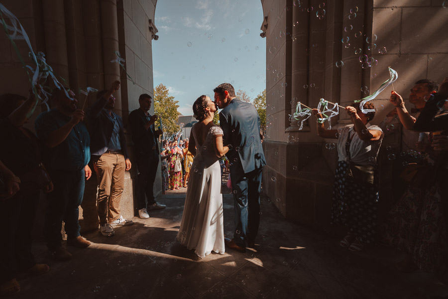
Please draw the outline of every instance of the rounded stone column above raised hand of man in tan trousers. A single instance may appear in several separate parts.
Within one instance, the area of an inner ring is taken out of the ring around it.
[[[118,21],[116,12],[116,0],[100,0],[101,9],[101,31],[103,39],[103,63],[104,63],[104,85],[109,88],[113,81],[120,80],[120,66],[112,63],[116,58],[115,51],[118,47]],[[115,108],[113,112],[121,116],[121,93],[115,96]]]

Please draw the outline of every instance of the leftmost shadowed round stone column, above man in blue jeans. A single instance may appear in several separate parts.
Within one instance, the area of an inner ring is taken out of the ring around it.
[[[57,75],[64,78],[68,83],[70,82],[70,78],[67,59],[64,2],[60,0],[43,0],[42,7],[47,63],[51,65]],[[61,83],[64,84],[64,82]]]

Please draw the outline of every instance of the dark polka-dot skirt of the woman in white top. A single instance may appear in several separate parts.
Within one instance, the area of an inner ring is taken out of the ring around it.
[[[378,185],[346,176],[348,162],[336,167],[332,201],[332,224],[344,225],[359,241],[373,244],[376,237]]]

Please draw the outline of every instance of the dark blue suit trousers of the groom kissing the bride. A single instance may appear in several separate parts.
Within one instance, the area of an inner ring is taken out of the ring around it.
[[[230,174],[235,200],[233,239],[237,245],[246,247],[246,242],[255,240],[260,224],[261,168],[244,173],[242,176],[235,174]]]

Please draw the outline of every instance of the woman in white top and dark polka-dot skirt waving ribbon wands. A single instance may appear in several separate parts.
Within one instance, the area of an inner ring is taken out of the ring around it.
[[[369,102],[363,107],[375,109]],[[345,111],[353,126],[327,130],[318,119],[317,130],[323,138],[338,139],[332,223],[347,227],[347,235],[339,244],[351,251],[360,251],[375,242],[378,205],[375,168],[383,132],[369,123],[375,112],[364,114],[359,102],[347,106]],[[313,114],[322,119],[317,109],[313,109]]]

